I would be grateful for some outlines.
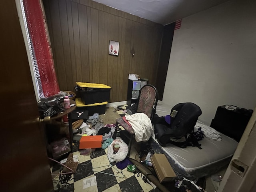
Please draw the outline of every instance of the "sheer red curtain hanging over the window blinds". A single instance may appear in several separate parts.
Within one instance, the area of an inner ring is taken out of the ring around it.
[[[52,96],[57,94],[60,88],[56,78],[42,7],[39,0],[23,0],[23,4],[44,96]]]

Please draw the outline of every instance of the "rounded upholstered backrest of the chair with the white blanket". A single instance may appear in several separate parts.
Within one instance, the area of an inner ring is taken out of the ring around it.
[[[154,113],[156,112],[157,102],[157,89],[151,84],[146,84],[140,89],[136,112],[146,114],[152,121]]]

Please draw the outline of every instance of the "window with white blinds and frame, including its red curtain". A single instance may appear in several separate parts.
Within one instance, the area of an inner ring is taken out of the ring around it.
[[[37,100],[59,92],[40,0],[16,0]]]

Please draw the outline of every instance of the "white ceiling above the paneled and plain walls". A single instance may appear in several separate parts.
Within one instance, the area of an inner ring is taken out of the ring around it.
[[[94,0],[107,6],[160,23],[170,24],[228,0]]]

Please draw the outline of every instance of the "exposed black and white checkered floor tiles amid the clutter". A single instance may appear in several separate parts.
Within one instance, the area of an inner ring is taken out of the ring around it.
[[[88,155],[81,155],[80,151],[73,152],[73,155],[78,155],[79,164],[77,170],[72,174],[68,184],[61,185],[61,188],[57,191],[60,192],[160,192],[158,188],[154,189],[150,184],[145,183],[142,180],[141,174],[134,174],[127,171],[127,168],[120,170],[114,163],[113,166],[109,166],[110,162],[107,156],[107,150],[99,148],[93,153]],[[131,151],[131,158],[134,158],[137,154],[136,150]],[[103,166],[103,167],[102,167]],[[56,164],[52,167],[52,172],[56,172],[61,167],[60,164]],[[100,168],[98,168],[100,167]],[[98,171],[94,172],[92,169]],[[117,169],[117,170],[116,170]],[[120,172],[124,174],[124,178],[116,177],[122,176]],[[103,174],[105,172],[108,174]],[[115,176],[109,175],[114,174]],[[92,178],[94,181],[96,177],[96,185],[87,187],[88,178]],[[59,180],[59,176],[54,178],[54,184]]]

